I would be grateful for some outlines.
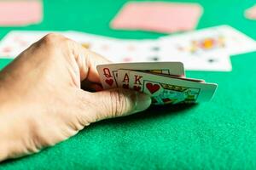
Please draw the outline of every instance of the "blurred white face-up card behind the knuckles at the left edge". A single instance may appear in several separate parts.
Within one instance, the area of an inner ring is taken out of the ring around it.
[[[49,32],[65,36],[65,32],[60,31],[10,31],[0,42],[0,57],[15,58]]]

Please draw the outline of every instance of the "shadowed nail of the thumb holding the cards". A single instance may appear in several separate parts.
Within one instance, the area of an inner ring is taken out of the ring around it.
[[[151,105],[151,98],[148,94],[137,93],[135,113],[145,111]]]

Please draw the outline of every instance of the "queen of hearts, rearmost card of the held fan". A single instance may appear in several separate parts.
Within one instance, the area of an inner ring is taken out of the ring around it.
[[[97,65],[97,71],[101,77],[104,89],[117,88],[121,84],[118,82],[118,70],[150,71],[152,73],[184,76],[183,64],[180,62],[158,62],[158,63],[119,63],[109,65]]]

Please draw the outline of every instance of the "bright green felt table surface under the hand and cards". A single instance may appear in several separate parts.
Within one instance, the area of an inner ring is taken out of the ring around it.
[[[0,28],[77,30],[122,38],[163,34],[113,31],[108,23],[125,0],[44,1],[40,25]],[[187,1],[188,2],[188,1]],[[256,21],[243,11],[254,0],[198,0],[204,14],[198,28],[228,24],[256,39]],[[143,113],[86,127],[78,135],[42,152],[0,164],[0,169],[255,169],[256,54],[231,57],[233,71],[188,71],[188,77],[217,82],[211,102],[151,108]],[[9,59],[0,59],[3,68]]]

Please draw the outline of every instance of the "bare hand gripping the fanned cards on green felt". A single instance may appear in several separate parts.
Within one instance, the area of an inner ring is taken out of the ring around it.
[[[5,67],[0,72],[0,161],[38,152],[92,122],[147,109],[146,94],[81,88],[99,88],[96,65],[108,62],[77,42],[49,34]]]

